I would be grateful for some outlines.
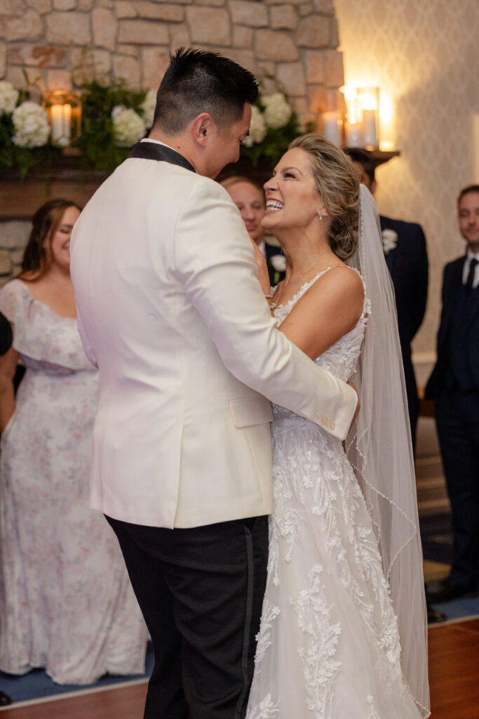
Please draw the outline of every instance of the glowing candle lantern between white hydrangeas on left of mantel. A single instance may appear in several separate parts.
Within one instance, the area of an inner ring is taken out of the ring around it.
[[[80,137],[80,94],[53,90],[44,96],[44,104],[50,121],[52,145],[70,147]]]

